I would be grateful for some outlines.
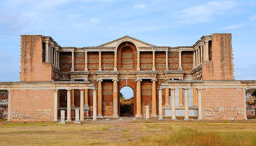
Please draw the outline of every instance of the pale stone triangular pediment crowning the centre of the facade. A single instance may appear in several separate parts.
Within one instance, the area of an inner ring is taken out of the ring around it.
[[[132,38],[132,37],[130,37],[128,35],[126,35],[126,36],[124,36],[122,38],[119,38],[119,39],[107,42],[105,44],[99,45],[98,47],[117,47],[118,45],[120,45],[123,42],[132,42],[137,47],[155,47],[155,45],[151,45],[151,44],[146,43],[144,41]]]

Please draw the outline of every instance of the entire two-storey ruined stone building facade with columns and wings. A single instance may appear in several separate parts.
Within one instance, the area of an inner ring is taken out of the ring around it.
[[[61,47],[49,36],[21,35],[20,82],[8,90],[8,121],[119,117],[119,92],[134,93],[134,116],[246,120],[245,89],[234,79],[230,33],[204,35],[192,46],[155,46],[124,36],[95,47]],[[175,98],[175,95],[177,98]],[[174,98],[172,98],[174,97]]]

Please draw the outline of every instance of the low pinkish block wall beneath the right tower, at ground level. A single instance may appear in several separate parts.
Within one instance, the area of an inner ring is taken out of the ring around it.
[[[242,88],[204,88],[202,115],[205,120],[244,120]]]

